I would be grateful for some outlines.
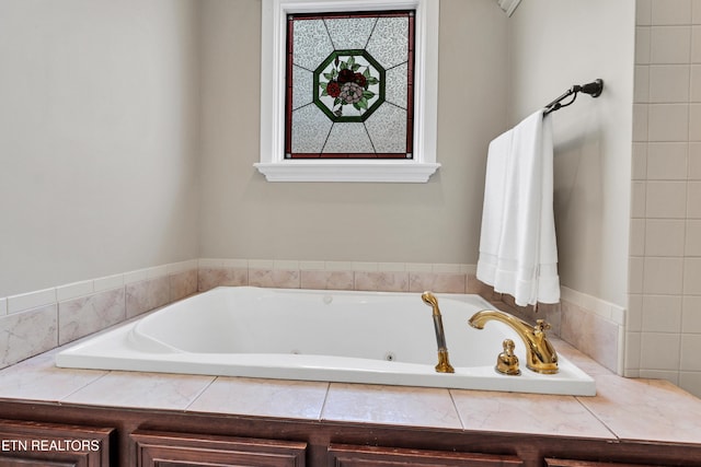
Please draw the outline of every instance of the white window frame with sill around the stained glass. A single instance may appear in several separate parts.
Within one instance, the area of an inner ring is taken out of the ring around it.
[[[268,182],[426,183],[436,162],[438,0],[263,0],[261,37],[261,160]],[[286,160],[285,50],[287,15],[334,11],[416,10],[414,154],[410,160]]]

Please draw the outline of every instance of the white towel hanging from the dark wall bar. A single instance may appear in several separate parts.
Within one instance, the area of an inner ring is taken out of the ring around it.
[[[520,306],[560,301],[552,122],[543,109],[490,143],[476,276]]]

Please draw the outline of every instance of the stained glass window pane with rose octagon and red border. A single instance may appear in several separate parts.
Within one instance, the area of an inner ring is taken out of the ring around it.
[[[414,11],[287,20],[285,159],[413,159]]]

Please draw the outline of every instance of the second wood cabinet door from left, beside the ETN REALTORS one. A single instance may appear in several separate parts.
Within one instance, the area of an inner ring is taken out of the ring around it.
[[[303,467],[307,443],[137,431],[138,467]]]

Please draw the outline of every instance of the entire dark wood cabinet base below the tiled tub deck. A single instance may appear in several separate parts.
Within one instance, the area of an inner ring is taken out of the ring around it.
[[[701,466],[701,444],[8,399],[0,413],[0,467]]]

